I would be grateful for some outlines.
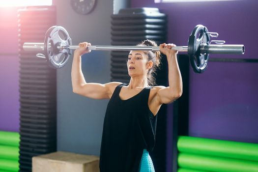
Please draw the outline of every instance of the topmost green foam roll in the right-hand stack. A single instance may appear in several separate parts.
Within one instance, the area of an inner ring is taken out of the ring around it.
[[[258,161],[258,144],[180,136],[180,152]]]

